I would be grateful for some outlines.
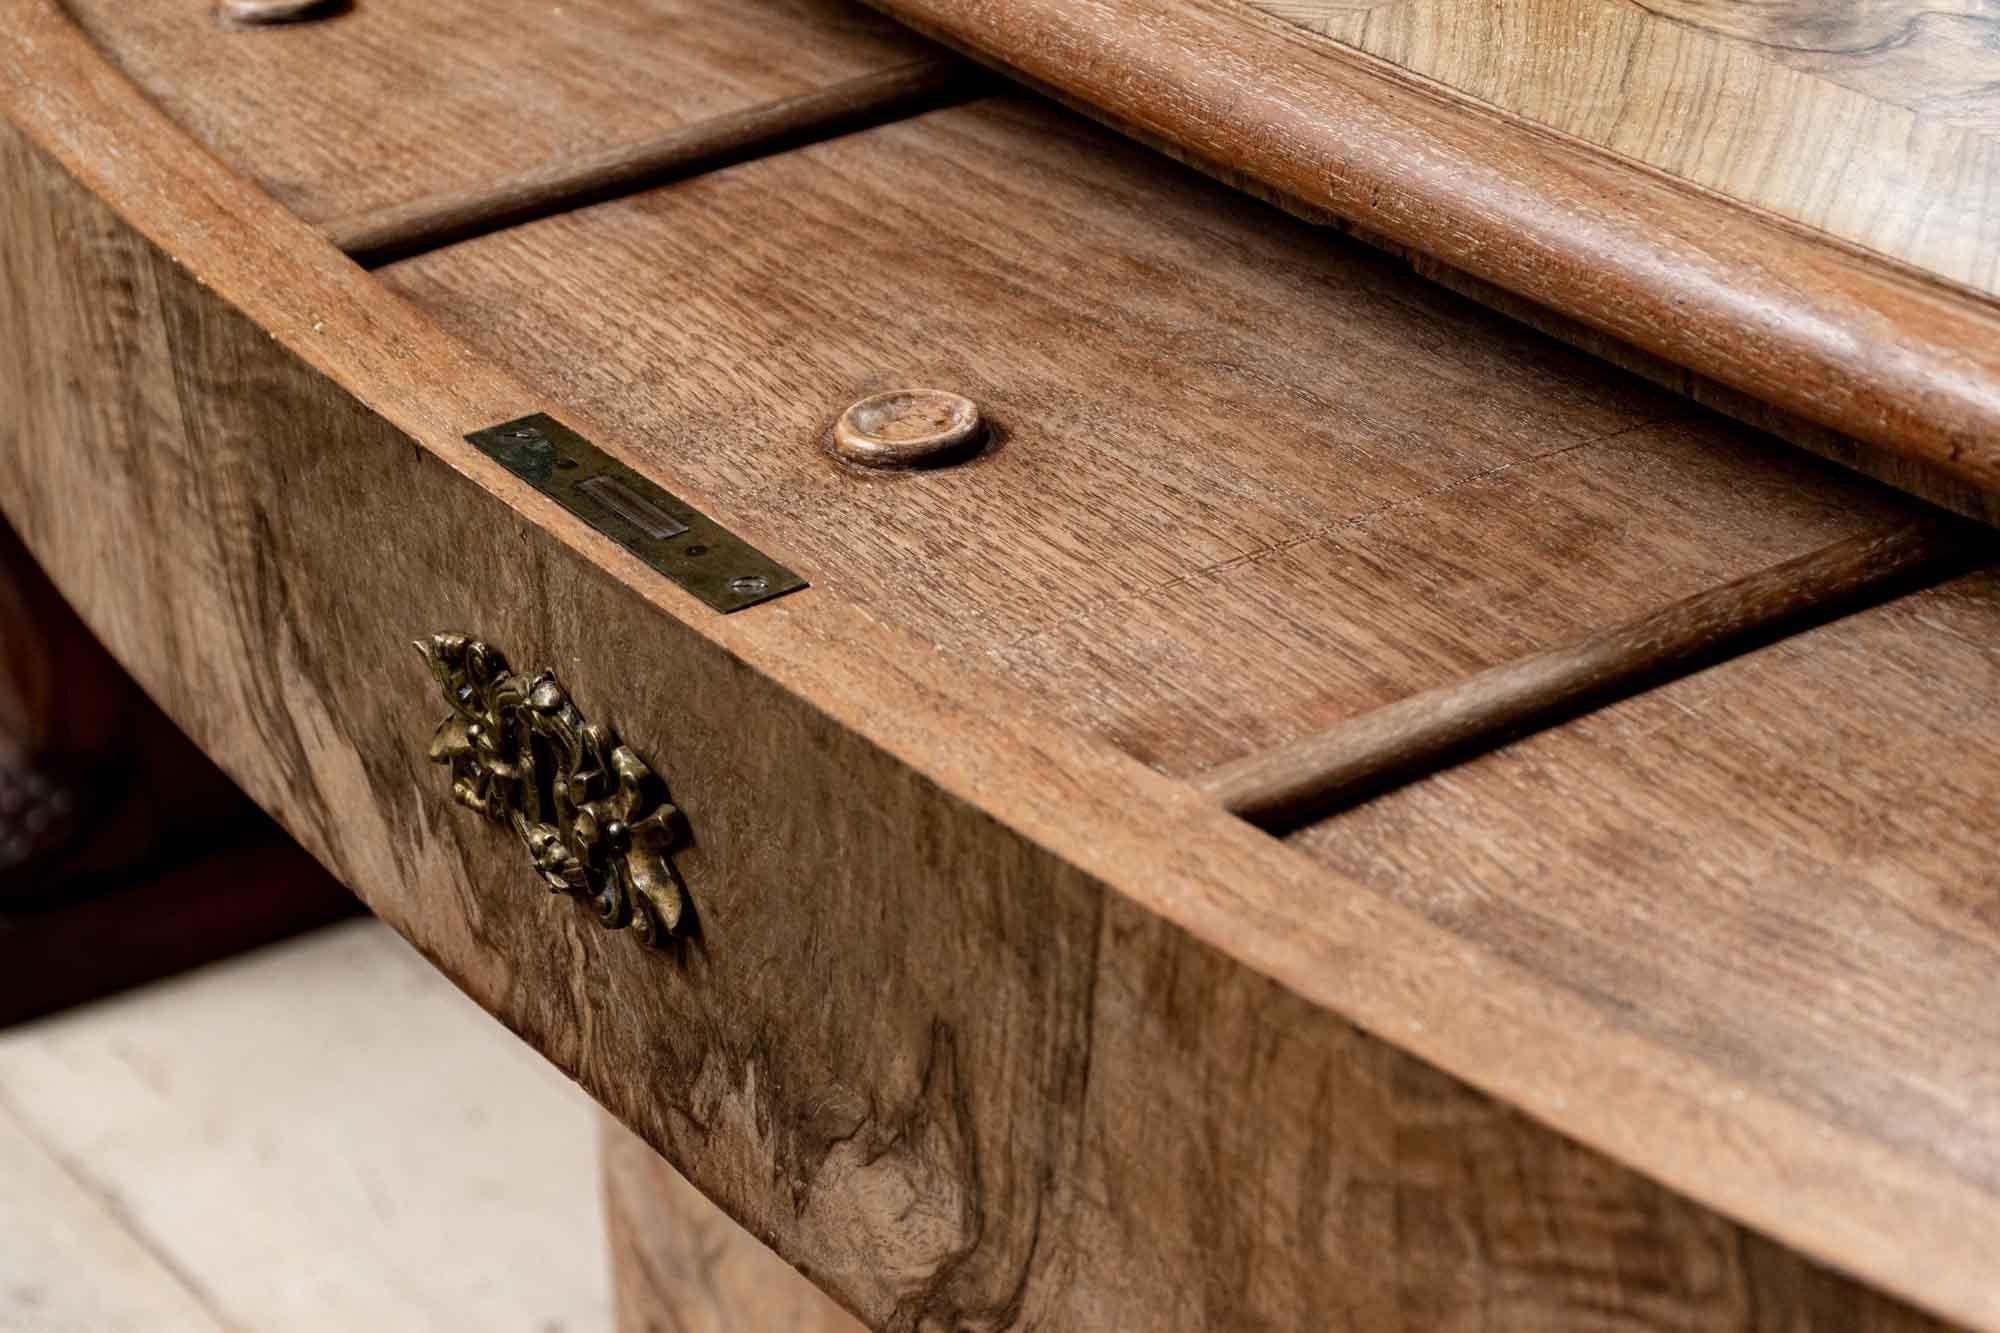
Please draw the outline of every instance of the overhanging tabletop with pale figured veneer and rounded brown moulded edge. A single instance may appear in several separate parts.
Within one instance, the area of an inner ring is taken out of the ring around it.
[[[1236,184],[2000,488],[1994,166],[1972,124],[1990,94],[1968,92],[1990,56],[1966,44],[1986,18],[1626,0],[878,4]],[[1816,34],[1832,46],[1800,50]],[[1898,60],[1964,96],[1888,100],[1914,82]]]

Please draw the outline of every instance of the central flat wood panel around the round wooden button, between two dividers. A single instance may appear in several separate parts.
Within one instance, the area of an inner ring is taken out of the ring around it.
[[[924,190],[950,202],[908,208]],[[796,264],[834,238],[842,264]],[[382,276],[642,470],[730,494],[818,586],[1168,773],[1902,512],[1026,100]],[[832,420],[900,384],[970,396],[998,440],[830,464]]]

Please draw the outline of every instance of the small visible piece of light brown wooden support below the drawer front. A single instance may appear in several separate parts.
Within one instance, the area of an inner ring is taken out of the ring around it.
[[[604,1117],[604,1223],[618,1333],[862,1329],[610,1117]]]

